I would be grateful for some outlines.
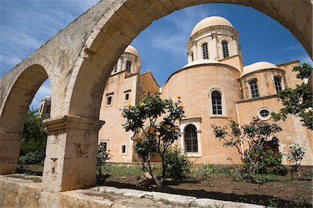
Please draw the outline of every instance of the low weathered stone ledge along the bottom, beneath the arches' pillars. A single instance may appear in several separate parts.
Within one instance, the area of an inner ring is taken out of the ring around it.
[[[16,178],[16,177],[25,177]],[[42,184],[33,182],[29,175],[0,175],[0,207],[224,207],[262,208],[241,202],[195,198],[186,195],[117,189],[98,186],[92,189],[77,189],[54,194],[56,200],[42,194]],[[38,177],[40,178],[40,177]],[[46,197],[46,198],[45,198]]]

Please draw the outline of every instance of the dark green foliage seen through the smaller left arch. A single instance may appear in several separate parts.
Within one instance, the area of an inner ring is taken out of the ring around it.
[[[26,115],[20,150],[19,163],[22,165],[41,164],[45,161],[47,130],[37,110],[29,110]]]

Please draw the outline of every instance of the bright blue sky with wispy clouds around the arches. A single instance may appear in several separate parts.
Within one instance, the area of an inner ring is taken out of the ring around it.
[[[1,0],[0,1],[0,77],[67,24],[93,6],[93,0]],[[300,59],[312,61],[298,40],[282,25],[259,11],[233,4],[209,3],[176,11],[153,22],[133,40],[142,60],[142,70],[152,71],[160,86],[169,75],[187,63],[186,42],[200,20],[208,16],[225,17],[240,35],[243,63],[257,61],[274,64]],[[46,81],[31,106],[49,95]]]

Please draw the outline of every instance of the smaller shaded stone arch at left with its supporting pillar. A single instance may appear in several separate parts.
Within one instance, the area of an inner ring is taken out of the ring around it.
[[[49,67],[49,61],[42,63]],[[30,61],[29,66],[21,70],[8,86],[0,111],[0,174],[13,173],[17,168],[29,105],[48,77],[45,67]]]

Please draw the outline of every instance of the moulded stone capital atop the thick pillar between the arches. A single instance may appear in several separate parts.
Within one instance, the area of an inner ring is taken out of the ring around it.
[[[104,120],[81,117],[79,115],[64,115],[43,120],[45,127],[49,131],[58,129],[93,129],[99,131],[104,125]]]

